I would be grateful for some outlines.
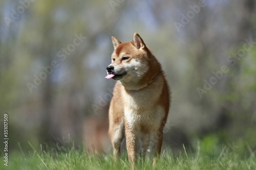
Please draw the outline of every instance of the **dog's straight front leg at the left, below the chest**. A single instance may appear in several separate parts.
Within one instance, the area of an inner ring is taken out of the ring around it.
[[[134,169],[134,164],[138,158],[139,138],[138,131],[133,127],[125,126],[126,148],[129,161]]]

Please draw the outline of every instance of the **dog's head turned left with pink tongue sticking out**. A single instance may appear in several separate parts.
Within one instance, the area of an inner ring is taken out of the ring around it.
[[[133,41],[120,42],[112,37],[114,52],[112,63],[106,67],[105,78],[120,82],[138,82],[149,69],[148,60],[151,52],[138,33],[134,33]]]

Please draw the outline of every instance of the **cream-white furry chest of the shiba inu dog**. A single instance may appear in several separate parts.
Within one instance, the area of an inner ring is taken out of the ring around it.
[[[158,105],[160,94],[161,90],[148,89],[125,96],[125,121],[131,128],[143,133],[159,129],[165,115],[163,107]]]

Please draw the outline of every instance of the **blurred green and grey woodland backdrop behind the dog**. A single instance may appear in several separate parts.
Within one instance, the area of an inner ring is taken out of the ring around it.
[[[9,152],[72,142],[110,153],[111,36],[127,42],[135,32],[172,89],[164,148],[255,151],[255,8],[253,0],[2,0],[0,125],[7,113]]]

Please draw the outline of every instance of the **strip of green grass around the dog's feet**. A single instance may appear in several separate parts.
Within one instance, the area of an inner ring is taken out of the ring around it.
[[[73,148],[47,149],[24,154],[12,153],[9,156],[8,167],[3,161],[0,169],[130,169],[127,156],[124,154],[116,163],[111,155],[89,155],[83,149]],[[136,169],[154,169],[152,161],[138,161]],[[256,169],[254,154],[242,156],[228,147],[223,147],[218,154],[203,154],[199,151],[189,153],[181,151],[173,156],[165,150],[158,160],[155,169]]]

